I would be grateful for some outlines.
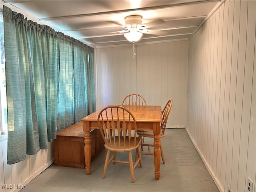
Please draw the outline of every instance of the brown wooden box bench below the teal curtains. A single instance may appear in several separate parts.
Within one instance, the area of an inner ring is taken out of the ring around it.
[[[83,122],[57,132],[54,139],[54,165],[85,168]],[[91,161],[104,148],[100,130],[91,130]]]

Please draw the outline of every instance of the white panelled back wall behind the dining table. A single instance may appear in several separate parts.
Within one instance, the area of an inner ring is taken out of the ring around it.
[[[148,105],[173,100],[167,127],[186,126],[188,40],[96,49],[97,109],[121,104],[130,93]]]

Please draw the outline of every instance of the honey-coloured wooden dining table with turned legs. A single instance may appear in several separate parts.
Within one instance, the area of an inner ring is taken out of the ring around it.
[[[158,105],[146,106],[126,106],[136,119],[137,130],[152,130],[154,132],[154,166],[155,178],[160,178],[160,124],[162,122],[162,110]],[[101,110],[101,109],[100,109]],[[98,113],[100,110],[82,118],[84,130],[84,159],[85,172],[87,175],[91,172],[91,129],[98,129]]]

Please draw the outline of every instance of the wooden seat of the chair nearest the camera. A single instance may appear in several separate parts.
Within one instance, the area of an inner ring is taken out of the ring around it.
[[[115,136],[115,140],[116,140],[116,146],[114,145],[114,137],[111,137],[112,146],[110,146],[110,140],[108,140],[108,145],[105,144],[105,148],[107,150],[114,151],[114,152],[132,151],[132,150],[135,150],[136,148],[138,148],[138,146],[140,145],[140,142],[141,142],[140,138],[136,138],[136,146],[133,146],[133,145],[130,146],[129,139],[128,139],[128,137],[126,137],[125,147],[124,147],[124,138],[123,137],[120,138],[120,146],[118,145],[118,136]],[[131,137],[130,142],[134,143],[134,137]]]

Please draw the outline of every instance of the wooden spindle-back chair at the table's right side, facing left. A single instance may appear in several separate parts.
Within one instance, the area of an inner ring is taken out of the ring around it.
[[[170,99],[170,100],[168,100],[168,102],[164,106],[164,109],[162,110],[162,123],[161,123],[160,138],[163,138],[165,136],[165,127],[166,127],[166,123],[167,123],[167,120],[168,120],[168,115],[170,113],[171,108],[172,108],[172,100]],[[142,138],[142,137],[154,138],[154,133],[152,131],[138,130],[137,134],[139,135],[139,138]],[[160,140],[160,142],[161,142],[161,140]],[[142,150],[143,150],[143,146],[148,146],[148,152],[141,152],[141,154],[154,155],[153,152],[150,152],[150,146],[154,146],[154,144],[141,143],[141,149]],[[160,144],[160,150],[161,150],[161,156],[162,156],[163,164],[165,164],[162,144]]]

